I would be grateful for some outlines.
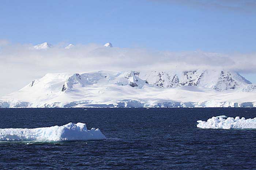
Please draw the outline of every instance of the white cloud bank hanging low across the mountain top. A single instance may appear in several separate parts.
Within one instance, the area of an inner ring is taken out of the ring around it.
[[[255,54],[219,54],[203,51],[153,51],[140,48],[108,48],[99,44],[63,43],[48,50],[31,50],[32,44],[0,40],[0,95],[19,90],[49,72],[226,69],[256,73]]]

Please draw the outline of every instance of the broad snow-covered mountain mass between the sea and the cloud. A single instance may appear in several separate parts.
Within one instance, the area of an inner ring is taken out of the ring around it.
[[[0,107],[255,107],[255,89],[225,70],[46,74]]]

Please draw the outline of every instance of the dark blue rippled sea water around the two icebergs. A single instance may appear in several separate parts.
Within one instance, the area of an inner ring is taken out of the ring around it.
[[[256,117],[256,108],[0,109],[0,128],[84,122],[105,141],[0,142],[0,169],[255,170],[256,130],[205,130],[196,120]]]

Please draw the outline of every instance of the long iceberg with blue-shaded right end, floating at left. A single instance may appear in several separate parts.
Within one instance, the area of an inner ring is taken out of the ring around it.
[[[35,129],[0,129],[0,141],[92,141],[106,137],[99,129],[87,130],[84,123]]]

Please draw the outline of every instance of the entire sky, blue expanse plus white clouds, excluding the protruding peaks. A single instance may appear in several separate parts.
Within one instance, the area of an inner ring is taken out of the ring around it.
[[[103,69],[218,67],[256,83],[256,0],[1,0],[0,25],[0,95],[48,72]],[[45,41],[55,48],[28,50]]]

